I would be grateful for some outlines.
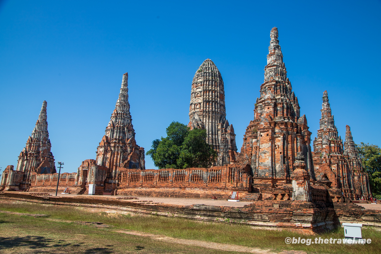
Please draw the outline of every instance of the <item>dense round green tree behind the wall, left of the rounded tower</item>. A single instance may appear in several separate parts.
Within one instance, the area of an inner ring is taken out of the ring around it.
[[[208,168],[217,154],[207,144],[206,130],[189,130],[186,125],[173,121],[166,129],[167,137],[155,139],[147,151],[158,168]]]

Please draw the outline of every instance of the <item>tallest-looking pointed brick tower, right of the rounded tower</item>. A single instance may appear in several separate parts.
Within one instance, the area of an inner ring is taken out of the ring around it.
[[[270,38],[261,96],[256,99],[254,120],[246,129],[239,157],[241,163],[251,165],[253,187],[264,178],[288,179],[296,168],[298,177],[314,180],[311,132],[287,78],[276,27]]]

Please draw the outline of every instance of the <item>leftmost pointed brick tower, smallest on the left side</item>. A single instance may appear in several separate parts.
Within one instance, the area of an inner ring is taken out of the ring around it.
[[[53,153],[50,152],[46,105],[46,101],[43,101],[36,126],[28,137],[26,146],[22,149],[17,162],[16,170],[24,172],[25,180],[29,179],[32,171],[37,174],[56,173]]]

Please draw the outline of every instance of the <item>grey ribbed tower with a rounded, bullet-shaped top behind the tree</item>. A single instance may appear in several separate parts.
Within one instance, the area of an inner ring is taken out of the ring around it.
[[[237,146],[233,125],[226,120],[224,81],[214,62],[206,59],[193,77],[189,127],[207,130],[207,143],[217,151],[215,166],[234,163]]]

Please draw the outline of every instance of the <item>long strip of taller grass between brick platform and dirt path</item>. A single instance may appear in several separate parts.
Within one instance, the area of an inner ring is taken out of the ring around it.
[[[248,246],[253,248],[261,249],[272,249],[274,251],[283,251],[283,250],[303,250],[308,253],[379,253],[381,249],[381,232],[376,231],[371,228],[363,228],[362,234],[363,238],[371,238],[371,244],[311,244],[307,246],[306,244],[286,244],[286,237],[301,237],[301,238],[312,238],[315,239],[316,236],[308,236],[300,233],[288,231],[288,230],[262,230],[262,229],[253,229],[247,225],[236,225],[236,224],[224,224],[224,223],[206,223],[206,222],[197,222],[194,220],[180,219],[176,217],[159,217],[159,216],[128,216],[128,215],[115,215],[110,216],[106,212],[102,213],[91,213],[86,212],[77,208],[63,207],[63,206],[44,206],[40,204],[31,204],[31,203],[0,203],[0,210],[4,211],[14,211],[14,212],[23,212],[23,213],[38,213],[38,214],[50,214],[49,219],[59,219],[59,220],[70,220],[70,221],[99,221],[104,224],[114,225],[113,228],[107,229],[95,229],[87,226],[75,225],[67,222],[53,222],[46,218],[33,218],[27,216],[15,216],[10,214],[0,213],[2,218],[10,216],[13,218],[15,224],[22,224],[24,220],[27,220],[30,225],[33,225],[33,222],[36,222],[36,225],[33,227],[34,230],[38,230],[41,227],[43,222],[46,222],[44,230],[49,227],[58,227],[54,226],[54,223],[61,223],[60,227],[62,234],[72,235],[76,230],[80,228],[83,233],[80,233],[83,238],[92,237],[101,237],[99,236],[100,232],[108,232],[108,235],[102,235],[102,237],[110,237],[115,239],[119,238],[142,238],[141,236],[126,236],[125,234],[113,232],[115,230],[136,230],[140,232],[154,233],[157,235],[165,235],[173,238],[181,239],[192,239],[192,240],[203,240],[203,241],[213,241],[216,243],[225,243],[225,244],[236,244],[242,246]],[[18,219],[17,219],[18,218]],[[3,219],[6,220],[6,219]],[[40,224],[38,224],[38,223]],[[3,228],[7,227],[8,223],[1,223],[0,235],[3,233]],[[17,227],[16,227],[17,228]],[[45,232],[45,231],[36,231],[36,232]],[[30,233],[30,232],[29,232]],[[38,235],[38,234],[37,234]],[[111,236],[112,235],[112,236]],[[342,228],[338,228],[335,231],[322,233],[317,235],[321,238],[344,238],[344,231]],[[144,237],[143,237],[144,238]],[[114,240],[113,240],[114,241]],[[313,240],[314,241],[314,240]],[[86,243],[85,240],[83,240]],[[111,244],[111,243],[110,243]],[[160,242],[160,244],[164,244]],[[159,244],[159,245],[160,245]],[[113,246],[117,244],[113,243]],[[181,245],[182,246],[182,245]],[[133,246],[132,246],[133,247]],[[132,248],[131,247],[131,248]],[[68,247],[69,248],[69,247]],[[100,248],[100,247],[99,247]],[[163,247],[164,248],[164,247]],[[186,250],[189,250],[189,246],[185,247]],[[136,251],[136,250],[134,250]],[[154,250],[152,253],[162,253],[160,248]],[[208,251],[212,251],[208,249]],[[203,249],[205,252],[205,249]],[[106,253],[106,252],[105,252]],[[112,253],[112,252],[108,252]],[[128,253],[128,252],[126,252]],[[148,252],[147,252],[148,253]],[[184,252],[188,253],[188,252]],[[189,252],[192,253],[192,252]],[[209,253],[209,252],[208,252]]]

